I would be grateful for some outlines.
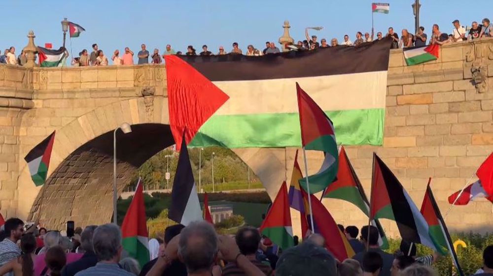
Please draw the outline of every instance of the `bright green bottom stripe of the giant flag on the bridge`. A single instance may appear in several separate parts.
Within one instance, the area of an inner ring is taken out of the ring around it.
[[[334,123],[338,143],[382,145],[384,108],[326,111],[325,114]],[[299,114],[212,116],[188,146],[230,149],[301,147]]]

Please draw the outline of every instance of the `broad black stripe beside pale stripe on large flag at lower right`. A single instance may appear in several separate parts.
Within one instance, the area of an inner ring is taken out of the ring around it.
[[[413,211],[404,194],[404,187],[377,154],[375,154],[375,160],[382,172],[392,212],[402,239],[409,243],[421,244]]]

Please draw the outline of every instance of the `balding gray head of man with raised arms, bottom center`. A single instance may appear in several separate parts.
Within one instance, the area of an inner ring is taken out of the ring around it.
[[[206,221],[194,221],[181,230],[178,254],[188,273],[209,270],[218,251],[217,236]]]

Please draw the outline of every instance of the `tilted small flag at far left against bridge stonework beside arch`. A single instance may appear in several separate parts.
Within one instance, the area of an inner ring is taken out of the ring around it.
[[[35,146],[26,157],[24,157],[24,160],[28,163],[31,178],[36,186],[40,186],[46,182],[54,141],[55,131]]]

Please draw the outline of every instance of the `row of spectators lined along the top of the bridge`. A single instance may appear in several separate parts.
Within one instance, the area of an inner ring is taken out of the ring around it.
[[[372,29],[371,34],[365,32],[364,34],[360,31],[356,32],[354,42],[351,41],[348,34],[344,35],[344,40],[339,42],[337,38],[332,38],[330,44],[327,43],[325,38],[322,38],[320,42],[317,41],[317,35],[310,36],[308,28],[305,30],[306,40],[299,40],[296,43],[288,43],[284,45],[286,49],[292,51],[312,51],[318,48],[328,48],[340,45],[345,46],[357,46],[365,42],[372,42],[374,40],[381,40],[385,37],[392,38],[391,49],[407,48],[413,46],[425,46],[427,44],[447,44],[454,43],[463,40],[474,40],[481,37],[493,37],[493,25],[490,23],[488,18],[481,21],[481,24],[474,21],[471,23],[471,28],[467,31],[458,20],[452,22],[453,29],[452,33],[448,34],[441,32],[437,24],[434,24],[431,30],[431,35],[428,40],[428,34],[425,33],[424,27],[420,27],[418,32],[415,34],[410,33],[407,29],[401,31],[401,35],[397,34],[392,27],[388,28],[385,35],[382,32],[377,32],[377,37],[374,37],[374,30]],[[92,45],[93,51],[89,54],[87,49],[82,50],[78,57],[71,59],[71,65],[73,66],[106,66],[109,65],[109,56],[106,56],[103,50],[99,49],[97,44]],[[276,47],[276,43],[272,41],[265,42],[265,48],[259,50],[253,45],[248,45],[246,51],[240,48],[237,42],[232,44],[230,52],[227,52],[223,46],[219,46],[218,52],[216,54],[209,50],[207,45],[202,46],[202,52],[197,53],[197,50],[192,45],[189,45],[186,51],[183,53],[181,51],[175,51],[170,44],[166,45],[166,50],[163,53],[159,52],[159,49],[154,49],[150,53],[145,44],[141,45],[141,51],[137,53],[138,64],[145,63],[162,63],[166,55],[187,55],[187,56],[212,56],[212,55],[246,55],[246,56],[263,56],[268,54],[280,53],[281,50]],[[66,53],[68,55],[68,52]],[[119,50],[113,51],[111,56],[111,64],[113,65],[133,65],[134,64],[134,52],[130,50],[129,47],[125,47],[125,51],[120,55]],[[17,64],[24,65],[27,62],[26,55],[21,52],[19,56],[15,54],[15,48],[10,47],[5,49],[3,55],[0,55],[0,63]]]

